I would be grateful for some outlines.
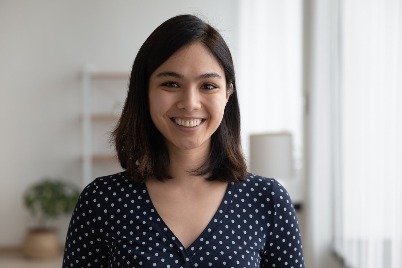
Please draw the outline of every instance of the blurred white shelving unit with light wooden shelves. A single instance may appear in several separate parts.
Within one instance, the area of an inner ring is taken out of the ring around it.
[[[119,119],[129,73],[98,72],[85,66],[82,83],[82,182],[121,171],[108,133]]]

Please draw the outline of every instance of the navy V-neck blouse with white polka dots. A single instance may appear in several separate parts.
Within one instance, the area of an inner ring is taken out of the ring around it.
[[[146,184],[122,172],[82,191],[63,267],[298,268],[304,259],[295,210],[276,180],[248,174],[230,183],[211,222],[184,248],[152,205]]]

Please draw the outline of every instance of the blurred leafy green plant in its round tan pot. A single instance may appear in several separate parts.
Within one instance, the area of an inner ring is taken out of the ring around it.
[[[44,178],[26,190],[25,207],[37,221],[37,226],[28,230],[23,243],[26,257],[47,258],[59,252],[57,232],[50,221],[72,213],[79,194],[73,184],[51,178]]]

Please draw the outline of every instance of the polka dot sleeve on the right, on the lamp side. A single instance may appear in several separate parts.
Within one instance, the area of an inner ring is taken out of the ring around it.
[[[285,188],[276,180],[273,180],[273,187],[273,229],[261,257],[261,267],[304,268],[299,223],[292,201]]]

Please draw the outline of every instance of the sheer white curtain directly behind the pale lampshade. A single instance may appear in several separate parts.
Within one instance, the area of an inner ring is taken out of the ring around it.
[[[301,7],[301,0],[240,0],[235,50],[244,152],[249,158],[250,134],[292,134],[295,174],[281,183],[294,203],[303,200]]]

